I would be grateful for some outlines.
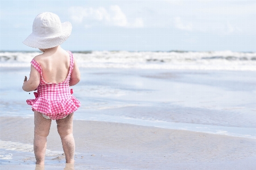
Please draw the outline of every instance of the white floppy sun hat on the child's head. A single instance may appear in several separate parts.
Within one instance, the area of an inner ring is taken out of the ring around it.
[[[71,23],[61,23],[56,14],[43,12],[34,19],[32,33],[23,44],[40,49],[52,48],[67,40],[71,31]]]

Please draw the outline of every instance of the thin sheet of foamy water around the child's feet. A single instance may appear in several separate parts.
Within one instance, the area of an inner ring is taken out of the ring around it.
[[[9,169],[12,165],[14,168],[11,169],[17,169],[16,165],[23,166],[24,169],[35,169],[33,145],[0,140],[0,146],[0,165],[6,165]],[[109,159],[113,160],[115,156],[111,153],[106,155],[102,152],[90,154],[76,151],[74,167],[75,169],[126,169],[122,168],[122,164],[115,165],[109,162]],[[64,169],[66,167],[63,151],[46,150],[45,159],[45,169]],[[65,168],[64,170],[71,169]]]

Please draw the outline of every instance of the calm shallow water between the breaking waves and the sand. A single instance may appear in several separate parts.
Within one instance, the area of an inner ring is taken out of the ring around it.
[[[82,104],[76,120],[256,136],[254,71],[80,70],[72,87]],[[33,116],[26,99],[34,95],[21,88],[29,69],[0,71],[1,116]]]

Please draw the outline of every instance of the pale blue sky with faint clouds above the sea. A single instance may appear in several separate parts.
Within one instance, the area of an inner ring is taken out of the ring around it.
[[[0,50],[22,43],[36,15],[72,23],[71,51],[256,52],[256,1],[0,1]]]

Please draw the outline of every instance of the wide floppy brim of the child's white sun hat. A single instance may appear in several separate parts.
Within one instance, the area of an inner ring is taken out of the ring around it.
[[[31,33],[27,39],[23,41],[23,44],[31,46],[33,48],[47,49],[53,48],[62,44],[71,35],[72,24],[69,22],[61,23],[62,32],[56,37],[38,37]]]

